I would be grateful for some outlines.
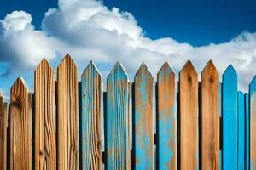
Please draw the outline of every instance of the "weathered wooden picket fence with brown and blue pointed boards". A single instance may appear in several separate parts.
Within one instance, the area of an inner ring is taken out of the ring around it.
[[[9,109],[0,94],[0,169],[256,169],[256,77],[237,92],[232,65],[220,82],[209,61],[198,79],[188,61],[176,93],[167,62],[156,83],[144,63],[130,83],[118,62],[103,92],[93,62],[78,82],[67,54],[55,81],[43,59],[33,94],[21,77]]]

